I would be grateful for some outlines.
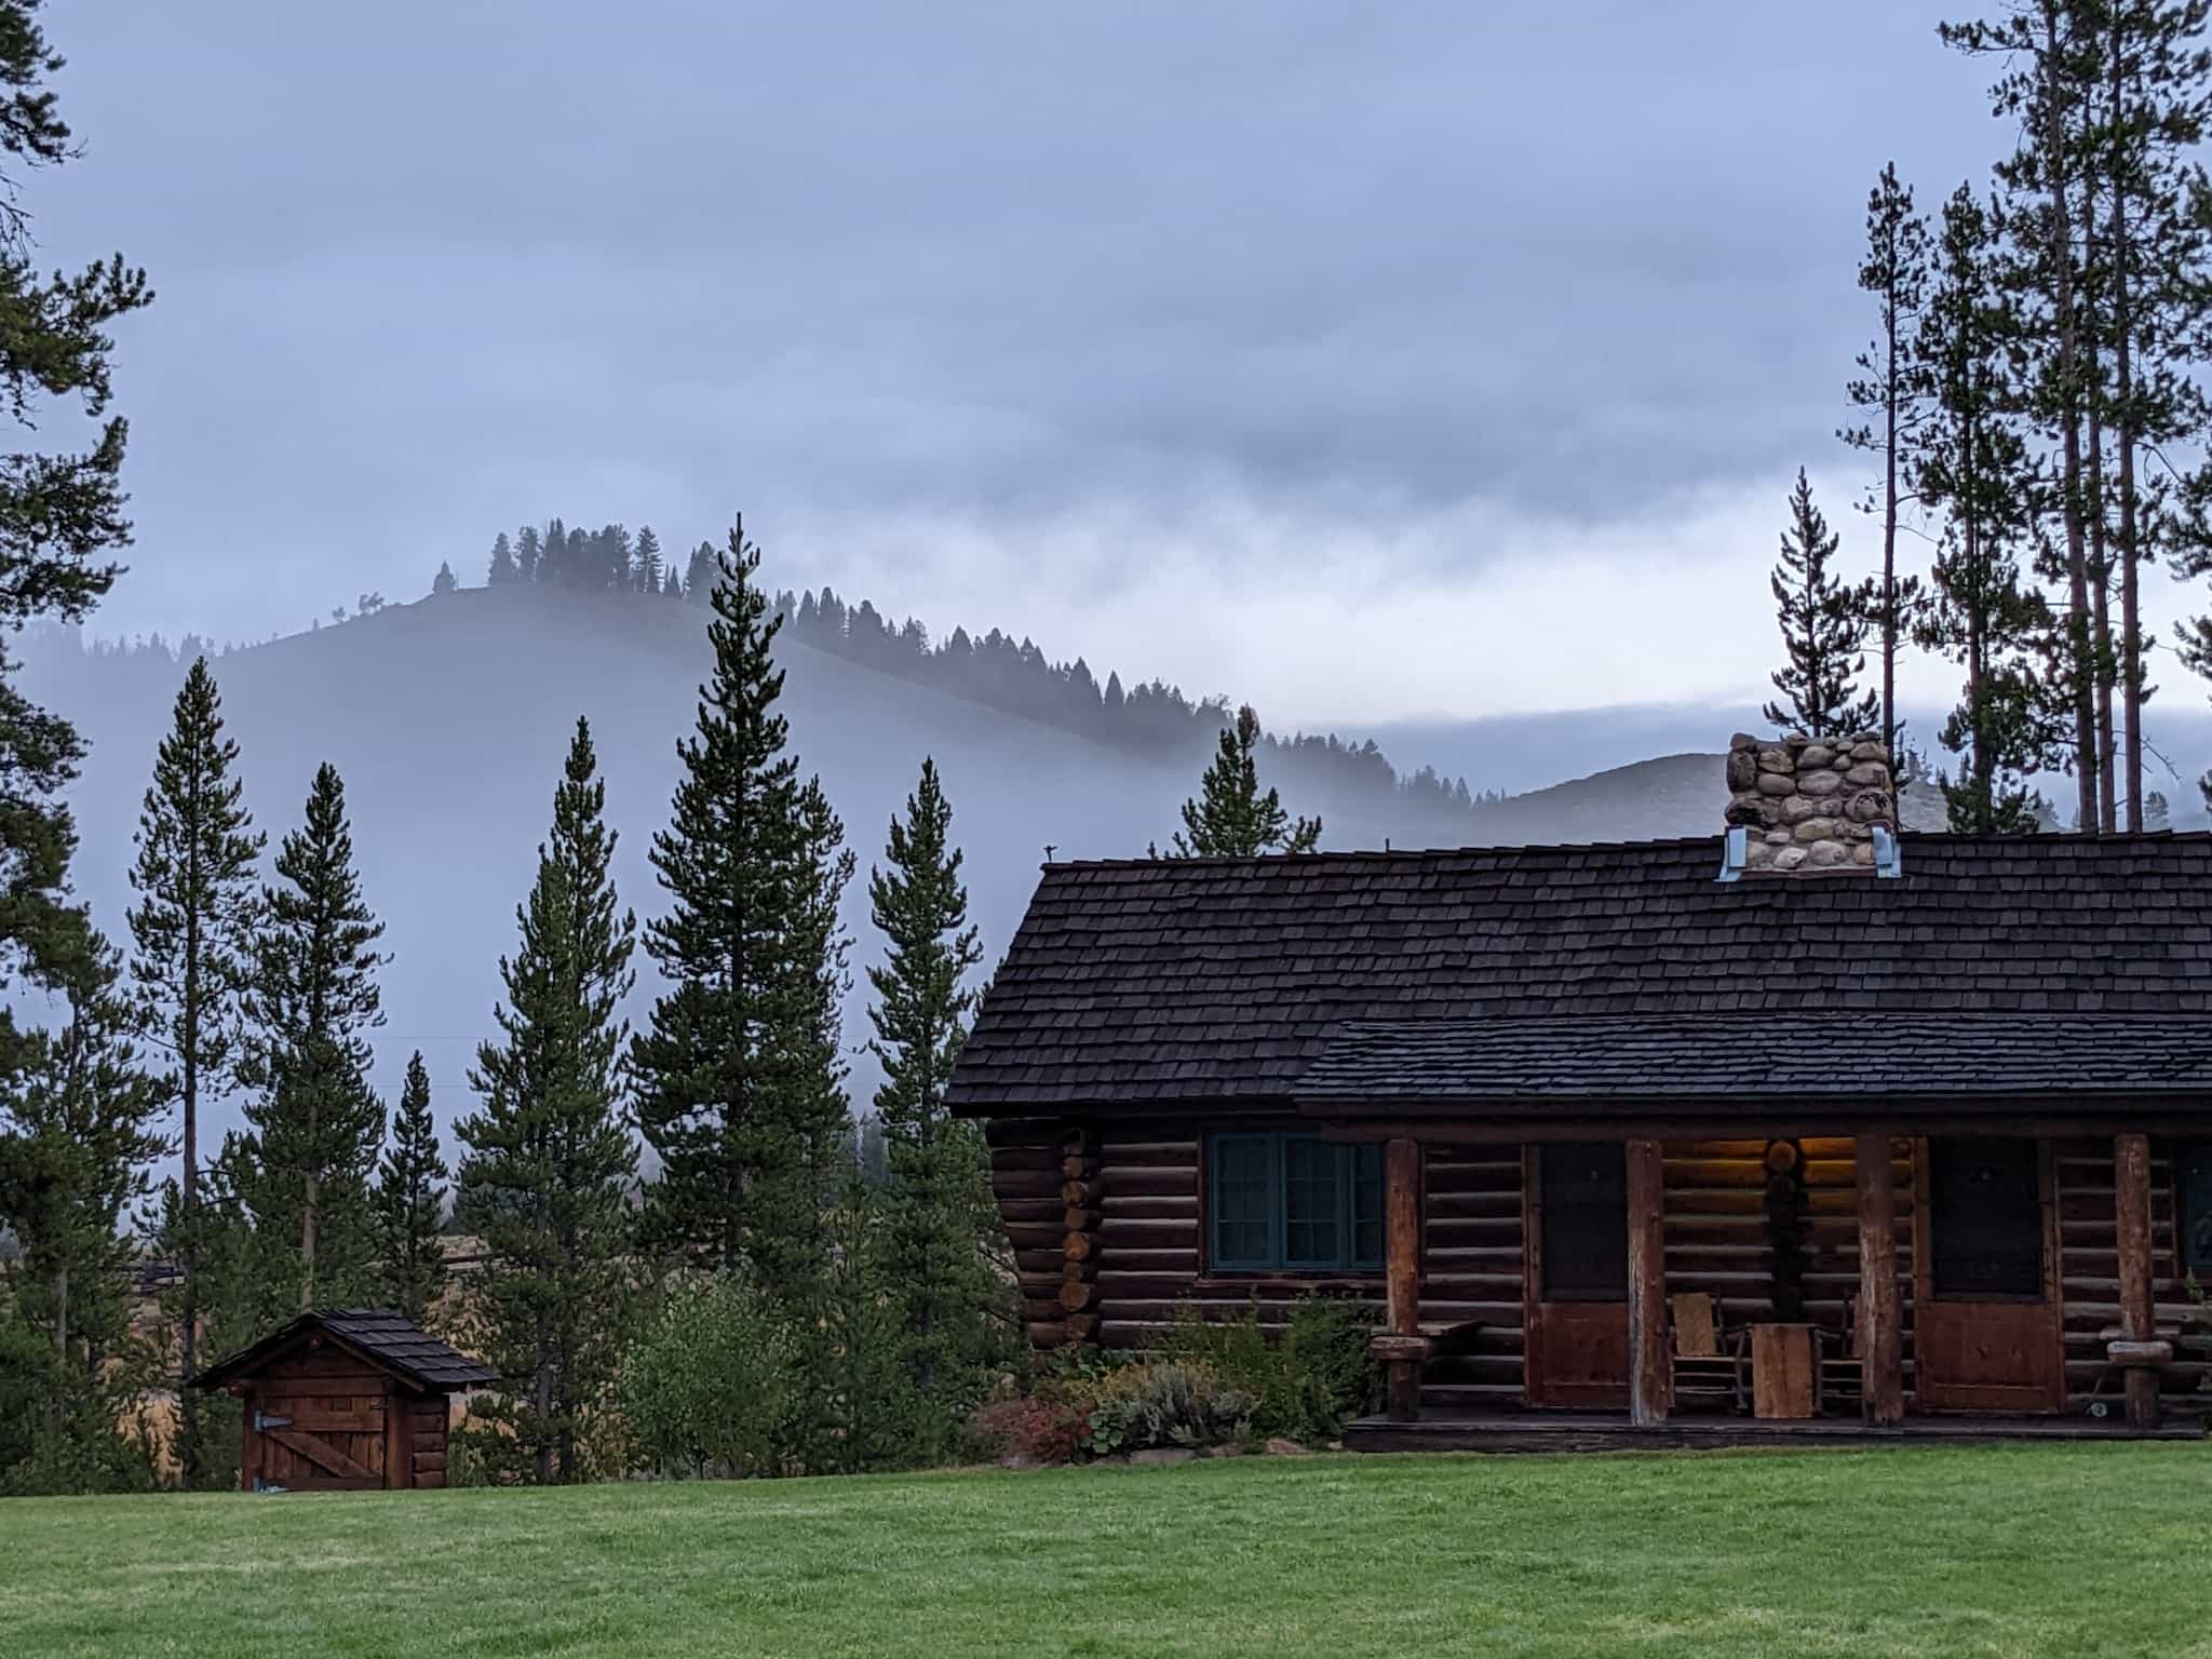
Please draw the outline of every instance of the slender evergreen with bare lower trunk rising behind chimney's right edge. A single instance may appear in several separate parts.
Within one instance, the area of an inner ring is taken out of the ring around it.
[[[1927,219],[1913,212],[1913,192],[1898,181],[1891,161],[1867,197],[1867,257],[1858,265],[1858,285],[1876,299],[1880,338],[1858,354],[1858,378],[1847,387],[1851,405],[1871,418],[1838,434],[1854,449],[1882,458],[1880,495],[1869,502],[1869,511],[1882,515],[1882,575],[1871,588],[1871,619],[1882,653],[1882,748],[1891,759],[1898,754],[1898,644],[1920,602],[1918,580],[1898,577],[1898,482],[1929,398],[1913,338],[1927,281]]]

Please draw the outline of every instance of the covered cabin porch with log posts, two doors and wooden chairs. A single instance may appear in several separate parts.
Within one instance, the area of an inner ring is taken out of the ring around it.
[[[2199,1369],[2192,1354],[2174,1374],[2177,1349],[2201,1347],[2181,1287],[2177,1148],[2154,1152],[2148,1133],[2020,1115],[1863,1119],[1825,1137],[1776,1124],[1765,1141],[1743,1139],[1756,1130],[1739,1119],[1725,1144],[1705,1139],[1723,1128],[1710,1119],[1697,1141],[1586,1121],[1542,1144],[1509,1141],[1495,1121],[1391,1128],[1387,1318],[1374,1338],[1389,1409],[1347,1444],[2203,1433],[2197,1396],[2174,1396]],[[1329,1133],[1347,1130],[1383,1139],[1369,1126]],[[1431,1166],[1482,1190],[1447,1179],[1438,1217]],[[1504,1168],[1520,1179],[1500,1183]],[[1506,1221],[1500,1201],[1520,1214]],[[1473,1252],[1451,1243],[1475,1228],[1517,1234],[1517,1305],[1493,1290],[1464,1310],[1482,1323],[1455,1323],[1467,1292],[1453,1276]],[[1444,1283],[1431,1285],[1440,1239]]]

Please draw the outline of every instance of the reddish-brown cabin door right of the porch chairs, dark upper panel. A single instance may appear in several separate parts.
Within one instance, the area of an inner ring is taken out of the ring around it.
[[[1929,1139],[1913,1181],[1922,1411],[2062,1411],[2066,1329],[2048,1141]]]

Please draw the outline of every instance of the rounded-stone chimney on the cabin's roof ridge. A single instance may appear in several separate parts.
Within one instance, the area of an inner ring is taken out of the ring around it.
[[[1867,872],[1896,847],[1898,796],[1876,732],[1728,741],[1728,823],[1745,832],[1741,872]],[[1734,860],[1730,860],[1734,863]]]

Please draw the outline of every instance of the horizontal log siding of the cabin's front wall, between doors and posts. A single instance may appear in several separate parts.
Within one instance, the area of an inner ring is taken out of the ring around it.
[[[995,1119],[991,1124],[993,1183],[1022,1274],[1031,1340],[1040,1347],[1066,1338],[1066,1210],[1057,1197],[1018,1197],[1000,1175],[1048,1172],[1064,1181],[1062,1141],[1068,1126],[1051,1119]],[[1093,1281],[1097,1294],[1093,1340],[1141,1347],[1166,1329],[1177,1303],[1192,1303],[1214,1318],[1250,1307],[1276,1325],[1292,1301],[1312,1290],[1371,1301],[1383,1316],[1383,1274],[1201,1276],[1201,1146],[1192,1126],[1117,1124],[1097,1130],[1097,1192],[1088,1206]],[[1666,1146],[1666,1267],[1668,1290],[1703,1290],[1723,1305],[1730,1325],[1772,1316],[1772,1245],[1765,1214],[1765,1139],[1670,1141]],[[1807,1318],[1843,1329],[1858,1292],[1858,1194],[1851,1137],[1801,1141],[1807,1181]],[[1902,1318],[1905,1396],[1913,1398],[1911,1298],[1911,1141],[1891,1141],[1896,1206],[1898,1307]],[[1513,1407],[1522,1398],[1522,1159],[1517,1146],[1427,1146],[1422,1323],[1482,1325],[1471,1352],[1429,1363],[1422,1407],[1480,1411]],[[2112,1139],[2081,1137],[2057,1146],[2059,1270],[2066,1301],[2066,1391],[2079,1409],[2104,1374],[2099,1332],[2119,1323],[2119,1237],[2115,1208]],[[2181,1283],[2174,1254],[2172,1148],[2150,1141],[2150,1232],[2157,1285],[2157,1325],[2185,1332],[2174,1365],[2161,1371],[2161,1396],[2183,1402],[2212,1369],[2197,1329],[2197,1307]],[[2119,1411],[2117,1378],[2106,1385]]]

